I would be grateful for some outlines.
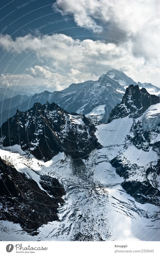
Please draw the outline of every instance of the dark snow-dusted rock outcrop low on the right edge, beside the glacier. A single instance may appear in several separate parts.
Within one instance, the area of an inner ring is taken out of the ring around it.
[[[125,158],[123,153],[111,160],[111,164],[116,168],[120,177],[125,181],[122,187],[141,204],[150,203],[160,206],[159,184],[156,176],[160,174],[160,162],[155,166],[151,164],[139,166],[137,163],[131,163]],[[142,159],[143,160],[143,159]]]

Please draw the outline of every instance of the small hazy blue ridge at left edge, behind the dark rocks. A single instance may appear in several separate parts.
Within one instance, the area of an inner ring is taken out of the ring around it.
[[[19,107],[22,105],[22,103],[26,100],[28,100],[30,97],[24,94],[21,95],[16,95],[14,97],[4,99],[0,101],[0,112],[3,112],[4,110],[7,109],[12,109],[14,107]],[[17,105],[17,103],[19,105]]]

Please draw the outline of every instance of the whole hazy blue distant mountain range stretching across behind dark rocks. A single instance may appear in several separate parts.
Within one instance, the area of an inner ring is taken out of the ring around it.
[[[94,122],[107,122],[111,110],[121,102],[122,96],[130,84],[136,85],[137,83],[125,75],[124,72],[112,69],[103,74],[97,81],[71,84],[68,88],[62,91],[54,91],[53,93],[45,90],[41,93],[35,93],[29,99],[24,96],[21,108],[19,107],[18,100],[16,106],[16,98],[10,99],[8,101],[10,102],[9,109],[5,108],[6,104],[1,107],[1,124],[7,121],[9,117],[12,117],[17,109],[26,111],[36,102],[45,104],[47,101],[49,103],[57,103],[67,112],[83,113]],[[141,84],[138,82],[138,85],[146,88],[151,94],[160,94],[160,88],[152,84]],[[42,87],[41,90],[44,88]],[[0,102],[0,106],[2,105],[3,102]]]

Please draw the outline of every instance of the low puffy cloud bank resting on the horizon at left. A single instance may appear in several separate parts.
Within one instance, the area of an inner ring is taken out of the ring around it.
[[[72,83],[84,82],[86,80],[97,80],[99,76],[86,74],[71,68],[65,76],[50,71],[48,67],[36,65],[26,69],[25,74],[1,74],[0,82],[2,87],[6,86],[27,86],[43,85],[46,90],[63,90]]]

